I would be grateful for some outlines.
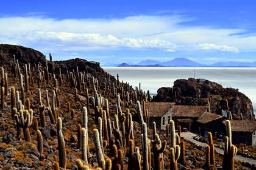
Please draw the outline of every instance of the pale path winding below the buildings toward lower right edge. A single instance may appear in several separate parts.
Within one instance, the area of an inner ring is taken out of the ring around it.
[[[182,132],[181,136],[183,138],[185,138],[185,140],[191,141],[194,144],[197,144],[199,146],[204,146],[204,147],[207,146],[206,143],[202,143],[200,141],[194,140],[193,137],[196,136],[196,134],[193,134],[191,132]],[[217,152],[218,154],[221,154],[221,155],[224,154],[224,151],[222,149],[219,149],[219,148],[216,148],[216,147],[215,147],[215,152]],[[241,155],[235,155],[235,160],[239,160],[241,162],[247,162],[247,163],[251,163],[253,165],[256,165],[256,160],[254,160],[252,158],[246,158],[246,157],[243,157]]]

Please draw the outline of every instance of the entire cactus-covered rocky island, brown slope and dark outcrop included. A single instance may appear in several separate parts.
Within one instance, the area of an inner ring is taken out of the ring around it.
[[[37,50],[7,44],[0,52],[0,169],[256,168],[254,158],[236,157],[254,148],[234,143],[234,121],[249,121],[248,131],[256,130],[252,103],[237,89],[177,80],[151,101],[97,62],[54,61],[51,54],[46,60]],[[188,138],[176,120],[193,114],[201,122],[205,115],[221,118],[223,140],[210,131],[204,144]],[[152,121],[159,115],[173,118],[166,117],[165,131]]]

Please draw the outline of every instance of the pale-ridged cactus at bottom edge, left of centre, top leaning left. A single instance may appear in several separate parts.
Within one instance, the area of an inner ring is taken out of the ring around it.
[[[102,160],[104,160],[104,155],[103,155],[102,148],[101,148],[101,142],[99,140],[99,131],[98,131],[98,129],[93,129],[93,138],[94,138],[94,143],[95,143],[96,154],[97,154],[97,157],[98,157],[99,166],[102,169],[105,169],[104,163],[102,162]]]

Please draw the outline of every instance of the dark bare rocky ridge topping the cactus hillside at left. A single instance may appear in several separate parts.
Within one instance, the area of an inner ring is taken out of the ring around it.
[[[16,60],[24,64],[39,64],[46,66],[46,58],[43,53],[30,49],[23,46],[0,44],[0,63],[5,66],[13,66],[13,55],[15,55]],[[52,70],[52,63],[48,61],[49,72]],[[54,73],[59,73],[59,68],[61,68],[62,73],[66,73],[66,70],[76,70],[79,67],[79,72],[88,72],[94,77],[102,80],[107,74],[100,66],[98,62],[87,61],[80,58],[75,58],[65,61],[54,61]],[[6,68],[11,69],[11,68]],[[114,77],[110,76],[111,79]],[[101,81],[102,82],[102,81]]]

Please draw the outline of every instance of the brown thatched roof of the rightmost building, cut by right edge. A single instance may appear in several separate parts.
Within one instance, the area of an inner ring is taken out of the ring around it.
[[[226,120],[222,121],[226,125]],[[256,121],[230,120],[232,132],[255,132]]]

